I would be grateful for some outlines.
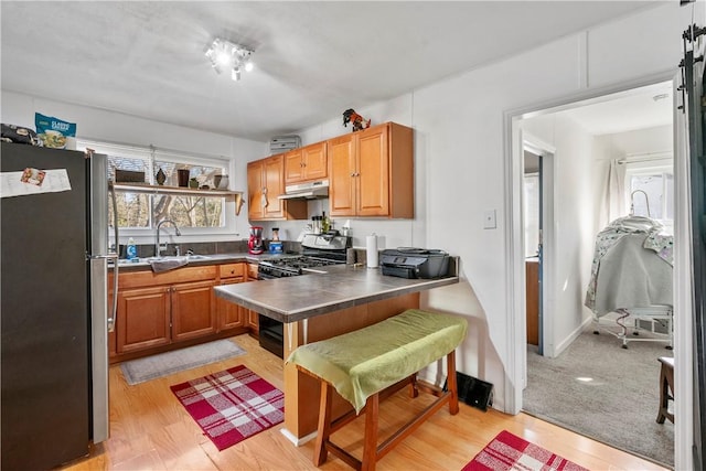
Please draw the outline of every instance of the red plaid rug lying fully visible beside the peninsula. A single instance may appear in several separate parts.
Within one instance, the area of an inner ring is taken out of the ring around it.
[[[218,450],[285,419],[282,392],[244,365],[170,388]]]

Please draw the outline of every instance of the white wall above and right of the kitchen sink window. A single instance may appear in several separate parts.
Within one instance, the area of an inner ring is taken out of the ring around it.
[[[132,144],[138,147],[154,146],[158,149],[195,152],[199,154],[226,157],[231,160],[231,189],[247,194],[247,162],[260,158],[268,144],[246,139],[223,136],[164,122],[129,116],[120,113],[71,105],[44,98],[32,97],[13,92],[2,90],[2,108],[0,119],[34,129],[34,114],[54,116],[69,122],[76,122],[76,137],[96,141]],[[235,212],[235,205],[227,210]],[[247,206],[243,206],[240,215],[231,225],[231,234],[210,237],[211,240],[233,240],[248,236]],[[186,238],[186,237],[184,237]],[[203,239],[203,237],[200,237]],[[150,244],[153,237],[137,237],[138,244]]]

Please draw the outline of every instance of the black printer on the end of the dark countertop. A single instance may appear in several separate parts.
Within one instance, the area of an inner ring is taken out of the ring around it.
[[[438,249],[398,247],[382,251],[383,275],[400,278],[441,278],[449,271],[449,254]]]

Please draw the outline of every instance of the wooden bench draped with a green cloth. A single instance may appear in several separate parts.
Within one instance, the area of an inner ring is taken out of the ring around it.
[[[376,324],[332,339],[299,346],[288,362],[321,382],[319,427],[313,463],[321,465],[332,452],[355,469],[374,470],[375,463],[408,437],[427,418],[449,405],[459,411],[456,383],[456,349],[466,338],[466,319],[409,309]],[[428,388],[437,399],[403,428],[377,445],[379,402],[402,387],[418,394],[416,374],[428,364],[447,358],[447,390]],[[353,410],[332,418],[333,389]],[[365,413],[363,457],[357,459],[330,440],[333,432]]]

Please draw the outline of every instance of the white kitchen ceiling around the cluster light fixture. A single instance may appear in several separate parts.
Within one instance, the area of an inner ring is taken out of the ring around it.
[[[657,3],[3,0],[1,84],[267,141]],[[214,36],[256,68],[216,74]]]

